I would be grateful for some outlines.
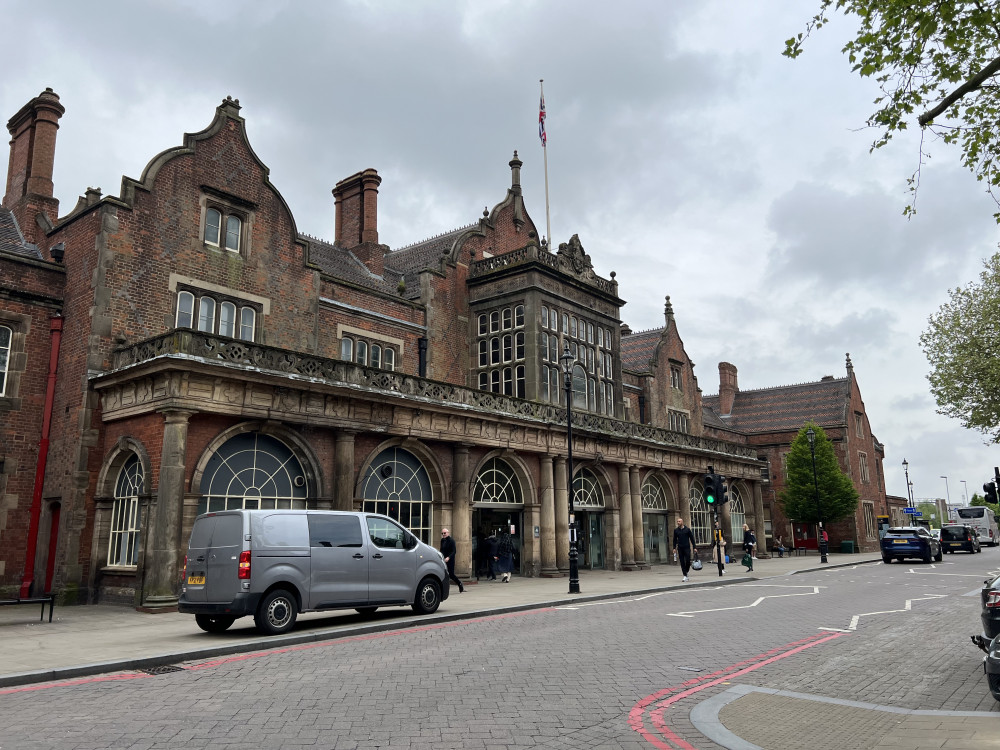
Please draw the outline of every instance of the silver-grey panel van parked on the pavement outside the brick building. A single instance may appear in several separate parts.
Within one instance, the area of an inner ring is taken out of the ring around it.
[[[253,615],[258,630],[277,634],[299,612],[410,605],[431,614],[448,589],[441,553],[387,516],[227,510],[195,519],[178,610],[209,633]]]

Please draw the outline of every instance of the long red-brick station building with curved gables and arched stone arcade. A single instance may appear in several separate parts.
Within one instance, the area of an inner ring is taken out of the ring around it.
[[[703,410],[669,298],[631,333],[580,239],[540,241],[516,153],[492,210],[392,249],[373,169],[333,187],[332,241],[301,232],[229,98],[60,215],[63,111],[47,89],[8,122],[0,588],[169,608],[193,519],[232,507],[447,526],[465,578],[513,526],[521,575],[566,575],[571,483],[585,578],[670,562],[678,514],[707,543],[709,465],[724,528],[763,538],[762,451]]]

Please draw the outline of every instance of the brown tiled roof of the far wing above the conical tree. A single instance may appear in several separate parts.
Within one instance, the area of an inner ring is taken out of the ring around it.
[[[733,413],[723,421],[748,434],[798,430],[810,420],[820,427],[847,424],[850,396],[848,378],[737,391]],[[719,396],[704,396],[702,406],[718,415]]]

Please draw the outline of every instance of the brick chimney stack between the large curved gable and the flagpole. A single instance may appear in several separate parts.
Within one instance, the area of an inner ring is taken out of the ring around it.
[[[382,178],[374,169],[351,175],[333,189],[337,225],[334,242],[352,251],[368,270],[381,276],[385,246],[378,244],[378,186]]]

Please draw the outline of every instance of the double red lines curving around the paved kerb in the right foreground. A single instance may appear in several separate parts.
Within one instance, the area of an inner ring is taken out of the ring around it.
[[[700,693],[706,688],[714,687],[720,683],[727,682],[734,677],[749,674],[750,672],[767,666],[768,664],[773,664],[781,659],[794,656],[807,648],[818,646],[821,643],[827,643],[837,638],[841,638],[844,635],[847,635],[847,633],[832,633],[829,635],[820,633],[809,636],[808,638],[803,638],[802,640],[786,643],[784,646],[778,646],[770,651],[765,651],[763,654],[758,654],[750,659],[730,664],[728,667],[724,667],[720,670],[712,672],[711,674],[694,677],[690,680],[685,680],[680,685],[674,685],[669,688],[664,688],[663,690],[658,690],[652,695],[647,695],[632,707],[632,710],[629,711],[629,727],[641,734],[647,742],[659,750],[673,750],[675,747],[680,748],[681,750],[696,750],[693,745],[679,737],[673,730],[670,729],[669,726],[667,726],[663,715],[666,710],[670,708],[670,706],[677,701],[688,698],[696,693]],[[656,728],[656,731],[659,732],[665,740],[667,740],[667,742],[664,742],[650,729],[647,729],[643,722],[643,714],[646,712],[646,709],[654,703],[656,704],[656,707],[649,712],[650,722]]]

